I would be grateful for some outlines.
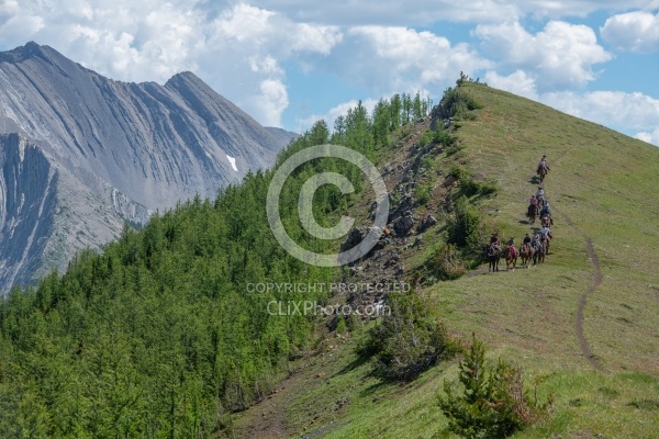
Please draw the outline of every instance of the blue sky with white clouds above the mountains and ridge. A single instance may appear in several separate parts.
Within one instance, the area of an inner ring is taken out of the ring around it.
[[[0,49],[29,41],[123,81],[193,71],[295,132],[463,71],[659,145],[659,0],[3,0]]]

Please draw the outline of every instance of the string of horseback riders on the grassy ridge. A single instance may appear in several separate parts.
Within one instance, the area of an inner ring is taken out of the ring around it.
[[[536,173],[546,175],[549,170],[549,165],[547,162],[547,156],[544,155],[538,164]],[[544,261],[545,255],[549,252],[549,240],[552,238],[551,229],[549,226],[554,225],[554,219],[551,218],[551,210],[549,207],[549,202],[545,196],[545,190],[541,185],[538,185],[538,190],[535,194],[530,195],[529,205],[527,215],[529,218],[529,224],[535,223],[535,218],[537,216],[540,217],[539,229],[536,229],[530,236],[528,233],[524,235],[524,240],[522,245],[517,249],[515,247],[515,238],[513,236],[505,243],[505,248],[502,254],[501,250],[501,240],[499,239],[499,234],[493,233],[490,237],[490,244],[488,245],[488,259],[490,259],[490,268],[492,270],[499,270],[498,262],[495,258],[499,259],[501,256],[504,256],[506,259],[506,266],[513,264],[513,268],[516,266],[517,254],[522,256],[523,266],[528,266],[530,259],[533,259],[534,263],[538,260]],[[510,259],[510,263],[509,263]]]

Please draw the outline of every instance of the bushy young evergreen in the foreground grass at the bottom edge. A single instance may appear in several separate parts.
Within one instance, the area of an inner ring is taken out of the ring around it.
[[[551,397],[543,405],[524,391],[522,370],[498,361],[485,365],[482,342],[473,336],[471,347],[460,361],[461,393],[444,383],[446,396],[438,404],[448,418],[449,430],[466,438],[505,438],[544,417]]]

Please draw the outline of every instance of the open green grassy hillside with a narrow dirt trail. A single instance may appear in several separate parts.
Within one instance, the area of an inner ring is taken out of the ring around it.
[[[480,205],[489,223],[517,243],[530,230],[524,212],[546,154],[555,238],[543,264],[480,270],[424,293],[457,337],[476,333],[490,360],[522,365],[538,397],[555,394],[551,416],[516,438],[656,438],[659,148],[484,85],[465,87],[482,109],[459,122],[458,160],[500,188]],[[300,437],[451,437],[436,397],[456,381],[457,360],[409,384],[382,384],[355,342],[303,360],[284,399],[268,403],[272,413],[257,406],[258,416],[280,416],[280,431]],[[238,432],[258,423],[253,416],[237,418]]]

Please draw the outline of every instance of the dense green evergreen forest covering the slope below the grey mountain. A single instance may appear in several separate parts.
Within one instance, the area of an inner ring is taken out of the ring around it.
[[[369,114],[361,102],[291,142],[273,169],[325,143],[373,158],[390,134],[427,114],[429,100],[395,94]],[[299,244],[334,252],[300,224],[299,189],[319,170],[348,177],[340,160],[300,167],[282,191],[282,222]],[[247,285],[327,283],[337,270],[290,257],[272,236],[266,196],[273,171],[250,172],[215,200],[199,196],[129,225],[102,251],[77,255],[64,274],[14,288],[0,300],[0,437],[210,437],[226,414],[270,390],[287,359],[309,342],[314,322],[267,312],[272,300],[327,300],[326,291],[247,292]],[[349,199],[331,187],[314,196],[327,216]],[[319,218],[321,219],[321,218]]]

